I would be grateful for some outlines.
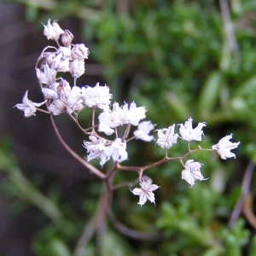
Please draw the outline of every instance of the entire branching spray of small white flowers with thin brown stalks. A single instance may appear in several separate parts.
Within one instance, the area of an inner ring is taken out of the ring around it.
[[[119,163],[128,159],[127,143],[132,139],[139,139],[147,143],[154,140],[151,132],[154,131],[155,125],[149,120],[143,120],[146,118],[146,108],[137,107],[135,102],[131,102],[131,104],[125,102],[123,105],[119,105],[118,102],[112,103],[112,94],[106,84],[103,86],[98,83],[95,86],[78,86],[76,82],[84,74],[84,60],[88,58],[89,49],[84,44],[73,44],[73,34],[62,30],[56,20],[52,24],[48,20],[47,25],[44,25],[44,35],[57,44],[57,47],[46,47],[37,62],[36,74],[44,95],[44,102],[32,102],[28,99],[26,91],[22,103],[16,104],[15,107],[24,111],[25,117],[34,116],[37,110],[51,115],[67,113],[88,136],[83,145],[87,151],[85,166],[90,167],[88,163],[90,160],[99,159],[101,166],[108,160],[113,160],[115,163],[113,171],[117,171],[120,168]],[[73,85],[69,84],[66,79],[62,79],[60,73],[70,73],[73,77]],[[44,104],[47,110],[39,108]],[[86,129],[79,124],[78,119],[79,113],[84,108],[90,108],[92,111],[91,126]],[[100,109],[97,119],[96,108]],[[204,150],[200,147],[190,149],[192,141],[201,141],[202,129],[206,126],[206,123],[201,122],[193,128],[192,121],[193,119],[189,118],[184,124],[177,125],[177,127],[179,126],[178,133],[175,132],[175,125],[155,130],[157,131],[156,145],[166,152],[164,159],[147,166],[147,168],[122,166],[123,169],[127,168],[139,173],[140,188],[132,189],[131,192],[139,196],[138,204],[141,206],[146,201],[154,203],[153,191],[159,188],[158,185],[152,184],[150,178],[146,179],[143,176],[143,172],[149,167],[158,166],[168,160],[177,160],[183,166],[181,177],[189,183],[190,187],[195,184],[195,180],[205,180],[201,174],[202,164],[200,162],[190,159],[183,163],[183,160],[190,154]],[[239,143],[231,143],[231,138],[232,135],[226,136],[213,145],[212,149],[207,150],[215,150],[223,160],[235,158],[236,155],[230,150],[237,148]],[[178,139],[188,143],[189,151],[181,157],[170,158],[168,149],[176,144]],[[95,167],[91,167],[90,170],[92,172],[97,170],[95,173],[100,173]],[[104,177],[104,174],[100,177]]]

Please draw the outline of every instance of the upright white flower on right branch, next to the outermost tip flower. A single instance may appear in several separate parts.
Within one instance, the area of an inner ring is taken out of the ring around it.
[[[195,129],[192,128],[192,120],[189,118],[189,121],[186,121],[185,124],[180,124],[179,134],[184,141],[201,141],[201,136],[203,131],[201,131],[203,126],[206,126],[205,123],[199,123]]]

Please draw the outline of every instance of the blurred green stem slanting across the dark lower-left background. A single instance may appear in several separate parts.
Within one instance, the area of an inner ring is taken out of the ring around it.
[[[2,151],[0,151],[0,159],[0,169],[8,173],[10,182],[18,189],[19,193],[16,196],[38,207],[67,236],[72,236],[73,230],[71,230],[71,224],[64,219],[64,216],[55,204],[38,191],[22,172],[20,172],[19,167],[15,166]]]

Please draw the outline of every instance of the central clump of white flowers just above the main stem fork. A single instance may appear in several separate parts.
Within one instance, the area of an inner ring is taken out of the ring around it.
[[[113,141],[107,141],[100,137],[96,138],[91,135],[90,142],[84,141],[84,148],[89,153],[87,160],[101,159],[100,164],[103,166],[106,161],[112,158],[114,161],[121,162],[127,160],[128,154],[126,152],[126,140],[129,136],[130,125],[137,126],[137,130],[133,132],[134,138],[150,142],[154,139],[149,132],[154,129],[154,125],[150,121],[140,122],[146,117],[146,109],[144,107],[137,107],[136,103],[132,102],[130,108],[127,103],[119,107],[119,103],[113,103],[113,108],[104,109],[99,114],[98,131],[104,132],[105,135],[110,136],[117,132],[117,128],[121,125],[127,125],[123,137],[118,137]]]

